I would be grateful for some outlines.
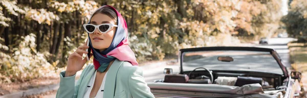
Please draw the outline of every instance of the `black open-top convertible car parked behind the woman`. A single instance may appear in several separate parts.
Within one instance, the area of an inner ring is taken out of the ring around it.
[[[271,48],[185,48],[179,62],[179,74],[165,68],[148,83],[156,97],[299,97],[301,73],[289,73]]]

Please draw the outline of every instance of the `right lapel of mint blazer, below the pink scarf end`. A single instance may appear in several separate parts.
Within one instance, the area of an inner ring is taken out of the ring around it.
[[[103,97],[114,97],[116,76],[118,69],[122,63],[123,61],[119,61],[118,59],[116,59],[111,65],[111,67],[108,69],[104,83]]]

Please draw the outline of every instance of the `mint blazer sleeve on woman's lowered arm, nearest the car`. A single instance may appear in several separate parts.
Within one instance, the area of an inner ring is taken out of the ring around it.
[[[136,66],[131,70],[128,85],[132,97],[155,97],[150,92],[150,88],[143,78],[143,70],[140,67]]]

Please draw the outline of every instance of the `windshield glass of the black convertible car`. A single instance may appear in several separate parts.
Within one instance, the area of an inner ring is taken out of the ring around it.
[[[260,71],[283,74],[277,61],[269,52],[253,51],[203,51],[184,52],[182,57],[183,71],[198,67],[210,70]],[[231,57],[233,61],[218,60],[218,57]]]

